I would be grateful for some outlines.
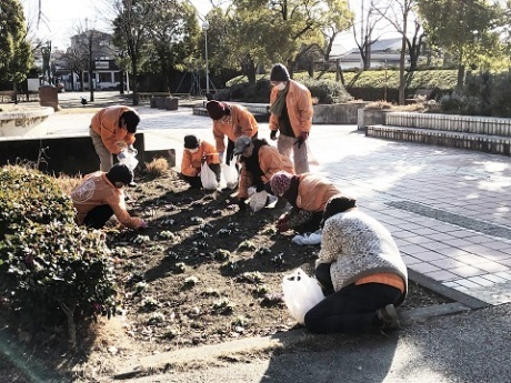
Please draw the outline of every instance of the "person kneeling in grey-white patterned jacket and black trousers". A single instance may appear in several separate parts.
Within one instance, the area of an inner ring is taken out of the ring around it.
[[[334,195],[323,211],[315,276],[327,296],[305,314],[314,333],[360,333],[399,327],[395,308],[408,291],[407,266],[390,232]]]

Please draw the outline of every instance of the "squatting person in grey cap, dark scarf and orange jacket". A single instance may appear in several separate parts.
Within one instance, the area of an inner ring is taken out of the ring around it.
[[[277,148],[271,147],[265,140],[251,140],[240,137],[234,143],[234,155],[240,155],[241,173],[238,187],[237,202],[243,208],[249,198],[249,188],[255,187],[255,191],[265,190],[271,192],[270,179],[279,171],[293,173],[291,160],[279,153]]]

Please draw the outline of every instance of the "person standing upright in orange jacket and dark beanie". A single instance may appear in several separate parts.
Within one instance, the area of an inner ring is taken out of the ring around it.
[[[312,125],[312,98],[309,89],[291,80],[288,69],[277,63],[270,72],[270,138],[279,152],[291,158],[297,174],[309,172],[305,141]],[[277,137],[277,132],[280,132]]]

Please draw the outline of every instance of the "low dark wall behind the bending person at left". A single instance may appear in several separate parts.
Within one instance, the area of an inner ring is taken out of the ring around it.
[[[156,157],[164,157],[170,167],[176,165],[173,149],[166,151],[167,155],[163,151],[146,152],[143,133],[137,133],[134,148],[139,151],[137,169],[142,169],[144,162]],[[27,162],[36,164],[38,159],[41,171],[54,174],[87,174],[99,170],[99,158],[89,135],[0,140],[0,165]]]

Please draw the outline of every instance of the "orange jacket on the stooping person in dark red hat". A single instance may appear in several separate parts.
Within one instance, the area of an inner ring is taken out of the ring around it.
[[[241,135],[252,137],[259,131],[258,122],[252,113],[242,105],[230,103],[231,114],[220,120],[213,120],[213,135],[217,143],[217,151],[226,151],[226,135],[236,141]]]

